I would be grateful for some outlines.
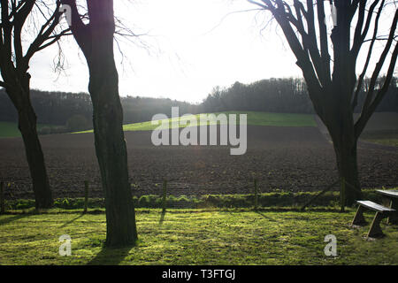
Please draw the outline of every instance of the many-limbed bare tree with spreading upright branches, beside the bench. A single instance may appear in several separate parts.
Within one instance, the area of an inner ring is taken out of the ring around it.
[[[325,1],[248,1],[272,13],[295,54],[296,65],[302,69],[315,111],[325,123],[333,140],[339,174],[348,185],[344,203],[353,203],[361,195],[357,140],[371,114],[387,93],[398,54],[398,44],[394,41],[398,19],[396,6],[393,7],[394,17],[389,18],[389,34],[379,34],[379,20],[381,17],[388,19],[387,4],[393,5],[394,1],[330,0],[329,3],[335,9],[333,15],[336,21],[330,39],[325,20]],[[368,38],[371,29],[373,32]],[[379,40],[384,43],[383,49],[377,58],[373,58],[374,43]],[[332,42],[332,48],[329,41]],[[364,42],[369,43],[369,48],[365,50],[366,60],[357,78],[357,58]],[[385,80],[380,88],[376,88],[376,82],[388,57]],[[369,71],[371,58],[376,59],[377,64],[371,72],[360,117],[355,120],[353,111],[363,87],[364,76]]]

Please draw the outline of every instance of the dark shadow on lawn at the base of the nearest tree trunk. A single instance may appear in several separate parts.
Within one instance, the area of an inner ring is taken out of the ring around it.
[[[125,248],[106,248],[103,249],[94,257],[88,265],[118,265],[128,255],[134,245]]]

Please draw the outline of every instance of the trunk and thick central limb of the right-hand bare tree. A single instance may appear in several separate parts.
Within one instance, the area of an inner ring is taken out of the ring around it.
[[[328,116],[331,126],[329,133],[333,139],[337,168],[340,178],[344,178],[344,202],[351,205],[361,196],[357,167],[357,138],[351,108],[351,97],[356,85],[355,57],[350,55],[350,5],[348,1],[337,1],[337,25],[333,27],[333,80],[326,98],[326,107],[332,110]]]

